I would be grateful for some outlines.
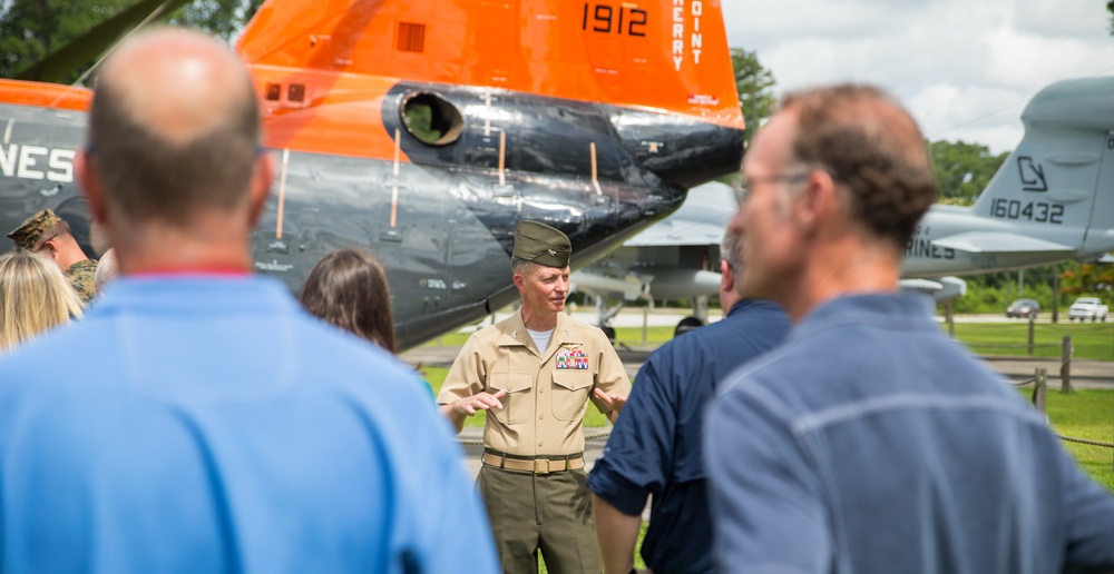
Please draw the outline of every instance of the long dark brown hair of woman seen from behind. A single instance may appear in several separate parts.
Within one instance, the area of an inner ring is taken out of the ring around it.
[[[312,315],[394,353],[391,291],[374,257],[359,249],[329,253],[310,271],[301,300]]]

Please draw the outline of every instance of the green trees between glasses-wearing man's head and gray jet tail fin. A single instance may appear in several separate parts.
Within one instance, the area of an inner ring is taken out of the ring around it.
[[[1009,156],[997,156],[980,144],[934,141],[928,146],[932,171],[945,202],[970,205]]]

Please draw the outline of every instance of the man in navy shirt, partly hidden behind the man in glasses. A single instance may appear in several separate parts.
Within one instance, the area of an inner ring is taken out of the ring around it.
[[[646,565],[656,573],[712,568],[701,415],[720,380],[781,343],[789,330],[789,317],[775,304],[743,297],[737,238],[724,237],[720,251],[720,303],[730,309],[726,318],[649,356],[588,477],[608,574],[631,571],[651,494],[654,504],[642,544]]]

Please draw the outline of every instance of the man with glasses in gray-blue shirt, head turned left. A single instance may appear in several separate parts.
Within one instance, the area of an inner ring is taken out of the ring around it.
[[[743,289],[795,326],[707,413],[719,568],[1114,568],[1114,498],[927,300],[898,293],[937,195],[912,118],[868,87],[790,95],[743,172]]]

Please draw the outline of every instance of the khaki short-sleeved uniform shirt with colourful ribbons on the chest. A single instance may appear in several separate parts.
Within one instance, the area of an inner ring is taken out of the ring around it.
[[[519,456],[584,452],[580,424],[594,395],[629,395],[631,380],[615,348],[598,328],[557,315],[549,346],[540,353],[521,311],[471,337],[452,363],[437,397],[446,405],[480,392],[506,390],[504,408],[490,409],[483,445]]]

